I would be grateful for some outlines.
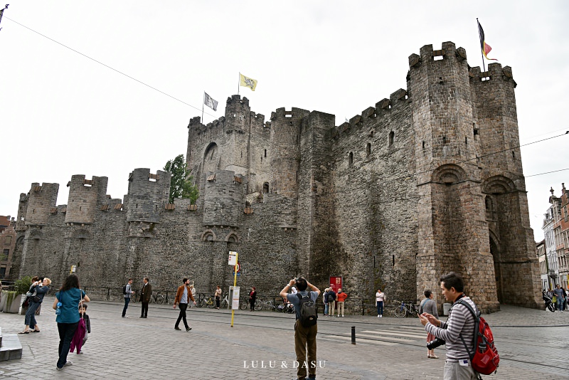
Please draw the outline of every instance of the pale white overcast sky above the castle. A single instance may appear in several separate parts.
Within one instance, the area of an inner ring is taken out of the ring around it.
[[[299,107],[334,114],[339,125],[405,88],[408,56],[423,45],[453,41],[481,66],[477,18],[489,57],[511,66],[518,83],[521,144],[563,134],[568,4],[11,1],[0,24],[0,215],[16,216],[32,182],[60,184],[58,204],[67,204],[73,174],[107,176],[107,194],[122,198],[132,169],[156,172],[185,155],[203,90],[219,101],[205,122],[224,115],[239,72],[258,80],[240,95],[265,120]],[[536,241],[549,189],[559,196],[562,182],[569,187],[569,170],[531,175],[568,169],[568,144],[569,135],[521,150]]]

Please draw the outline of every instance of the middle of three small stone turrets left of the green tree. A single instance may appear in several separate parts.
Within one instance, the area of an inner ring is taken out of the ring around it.
[[[85,179],[78,174],[71,176],[68,183],[69,199],[65,223],[90,224],[95,220],[97,204],[101,204],[107,193],[107,177],[93,176]]]

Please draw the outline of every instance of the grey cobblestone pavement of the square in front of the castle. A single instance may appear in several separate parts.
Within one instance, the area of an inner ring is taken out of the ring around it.
[[[188,309],[191,332],[174,330],[178,310],[151,305],[140,319],[139,304],[121,318],[117,302],[90,302],[92,333],[84,354],[69,354],[73,366],[55,371],[58,332],[46,297],[40,333],[18,335],[20,360],[0,361],[6,379],[293,379],[294,315]],[[569,379],[569,312],[502,305],[484,315],[501,362],[484,379]],[[390,314],[386,310],[387,314]],[[351,344],[351,327],[356,344]],[[0,313],[3,334],[23,329],[23,315]],[[318,379],[442,379],[441,359],[427,359],[426,333],[415,318],[319,317]],[[145,358],[145,359],[143,359]]]

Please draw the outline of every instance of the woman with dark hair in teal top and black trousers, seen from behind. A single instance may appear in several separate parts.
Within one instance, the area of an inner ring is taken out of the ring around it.
[[[79,278],[76,275],[68,275],[63,281],[60,290],[55,293],[53,309],[55,310],[55,322],[58,323],[59,332],[59,359],[56,369],[61,371],[64,366],[73,364],[67,359],[71,340],[75,329],[79,324],[79,306],[83,302],[89,302],[89,297],[79,287]]]

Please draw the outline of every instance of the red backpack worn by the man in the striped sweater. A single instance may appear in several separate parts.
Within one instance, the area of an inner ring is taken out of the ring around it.
[[[464,344],[464,348],[467,349],[469,354],[472,368],[474,371],[483,375],[489,375],[496,372],[500,362],[500,356],[496,346],[494,346],[494,336],[492,335],[488,322],[486,322],[484,318],[480,317],[480,312],[478,310],[474,312],[474,310],[472,310],[472,306],[470,306],[468,302],[460,300],[458,303],[466,306],[474,317],[474,352],[470,352],[466,342],[464,342],[462,336],[460,337],[462,344]]]

